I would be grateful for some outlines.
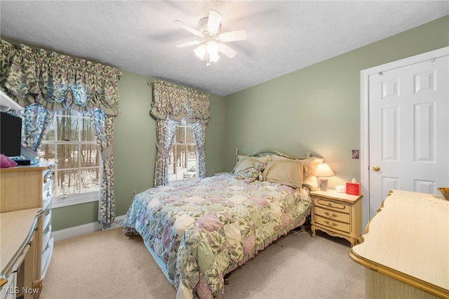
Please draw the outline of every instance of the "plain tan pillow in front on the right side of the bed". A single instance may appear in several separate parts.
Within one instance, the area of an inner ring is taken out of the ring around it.
[[[300,188],[304,178],[304,164],[302,161],[289,159],[269,161],[262,176],[268,182]]]

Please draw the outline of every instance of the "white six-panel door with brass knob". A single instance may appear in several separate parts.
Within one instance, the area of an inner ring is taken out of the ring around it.
[[[380,69],[366,78],[368,219],[389,190],[439,194],[449,186],[449,56]]]

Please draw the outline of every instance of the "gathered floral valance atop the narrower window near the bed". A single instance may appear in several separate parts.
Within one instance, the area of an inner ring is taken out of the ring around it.
[[[185,121],[206,124],[209,119],[209,95],[192,88],[177,86],[165,81],[153,81],[153,103],[151,114],[156,119]]]

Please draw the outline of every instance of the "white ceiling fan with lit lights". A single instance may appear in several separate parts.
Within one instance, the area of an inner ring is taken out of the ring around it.
[[[189,25],[181,22],[180,20],[175,20],[175,23],[179,24],[180,27],[187,30],[188,32],[201,37],[200,40],[196,41],[188,41],[187,43],[177,44],[177,48],[185,48],[188,46],[196,46],[199,47],[194,49],[194,53],[201,60],[206,60],[206,65],[209,66],[210,62],[217,61],[220,56],[218,52],[221,52],[229,58],[233,58],[236,55],[236,51],[223,44],[227,41],[242,41],[246,39],[246,31],[245,29],[220,33],[222,15],[211,9],[209,11],[209,16],[206,18],[202,18],[198,22],[198,29],[194,29]]]

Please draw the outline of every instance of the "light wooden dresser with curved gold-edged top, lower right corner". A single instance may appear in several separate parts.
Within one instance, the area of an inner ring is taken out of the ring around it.
[[[449,201],[392,190],[349,256],[366,267],[366,298],[449,298]]]

